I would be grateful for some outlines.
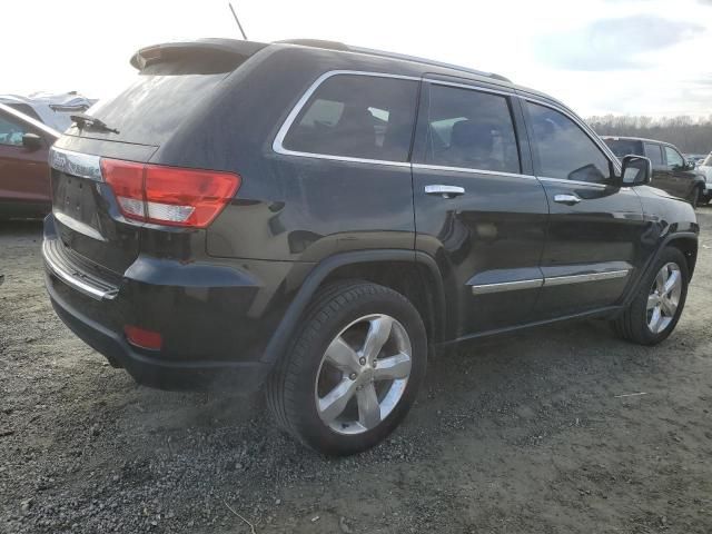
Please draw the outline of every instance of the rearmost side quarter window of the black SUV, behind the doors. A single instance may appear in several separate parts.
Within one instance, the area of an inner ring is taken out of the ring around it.
[[[299,152],[407,161],[418,82],[363,75],[328,78],[283,141]]]

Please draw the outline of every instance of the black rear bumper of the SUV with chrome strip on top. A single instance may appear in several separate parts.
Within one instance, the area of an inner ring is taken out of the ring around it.
[[[265,347],[288,299],[277,293],[293,265],[180,261],[139,255],[122,276],[75,257],[44,221],[46,284],[60,319],[138,383],[161,389],[250,393],[271,368]],[[161,334],[158,350],[128,343],[126,326]]]

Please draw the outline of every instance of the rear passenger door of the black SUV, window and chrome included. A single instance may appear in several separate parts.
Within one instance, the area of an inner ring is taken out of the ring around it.
[[[548,208],[514,95],[426,77],[413,156],[416,248],[445,278],[449,337],[527,320]]]

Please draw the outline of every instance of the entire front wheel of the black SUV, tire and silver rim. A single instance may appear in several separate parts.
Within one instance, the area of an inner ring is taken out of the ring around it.
[[[664,249],[629,308],[613,322],[616,333],[641,345],[655,345],[665,339],[680,320],[688,281],[684,255],[674,247]]]

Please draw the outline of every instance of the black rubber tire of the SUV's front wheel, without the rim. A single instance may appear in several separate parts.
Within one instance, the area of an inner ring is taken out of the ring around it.
[[[680,268],[682,276],[682,291],[680,295],[678,309],[670,324],[660,333],[653,333],[647,326],[647,298],[655,281],[657,273],[666,264],[674,263]],[[640,345],[656,345],[670,336],[674,330],[682,310],[685,306],[688,297],[688,284],[690,281],[690,271],[685,256],[675,247],[665,248],[651,271],[641,281],[637,295],[633,298],[627,309],[616,319],[612,322],[615,333],[623,339],[637,343]]]

